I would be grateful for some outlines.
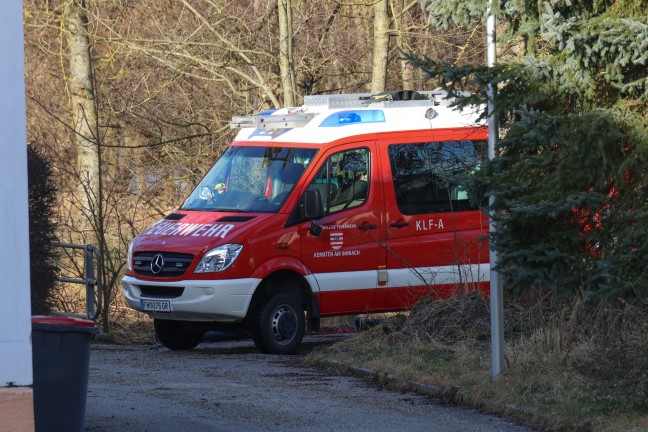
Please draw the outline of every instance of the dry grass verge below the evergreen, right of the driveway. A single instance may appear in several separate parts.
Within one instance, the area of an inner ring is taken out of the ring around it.
[[[506,371],[490,379],[488,302],[476,294],[419,303],[336,345],[335,361],[440,386],[455,401],[507,411],[546,430],[648,430],[648,302],[505,306]]]

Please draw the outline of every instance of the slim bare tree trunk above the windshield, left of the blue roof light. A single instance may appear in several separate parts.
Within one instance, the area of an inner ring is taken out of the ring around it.
[[[277,2],[279,15],[279,71],[284,93],[284,106],[295,106],[295,68],[292,48],[292,2]]]

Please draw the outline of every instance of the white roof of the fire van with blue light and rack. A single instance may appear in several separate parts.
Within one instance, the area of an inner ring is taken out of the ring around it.
[[[300,107],[235,116],[235,141],[326,143],[378,132],[474,128],[481,109],[451,108],[445,91],[305,96]]]

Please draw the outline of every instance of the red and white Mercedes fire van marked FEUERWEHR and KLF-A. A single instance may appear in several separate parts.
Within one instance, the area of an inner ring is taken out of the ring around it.
[[[187,200],[133,240],[129,306],[171,349],[230,328],[291,353],[321,317],[487,289],[488,219],[456,180],[485,160],[487,128],[444,96],[307,96],[234,117]]]

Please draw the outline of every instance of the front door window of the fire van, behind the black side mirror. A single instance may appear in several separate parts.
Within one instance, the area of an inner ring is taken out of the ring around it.
[[[324,213],[358,207],[369,196],[369,149],[331,155],[308,186],[320,191]]]

